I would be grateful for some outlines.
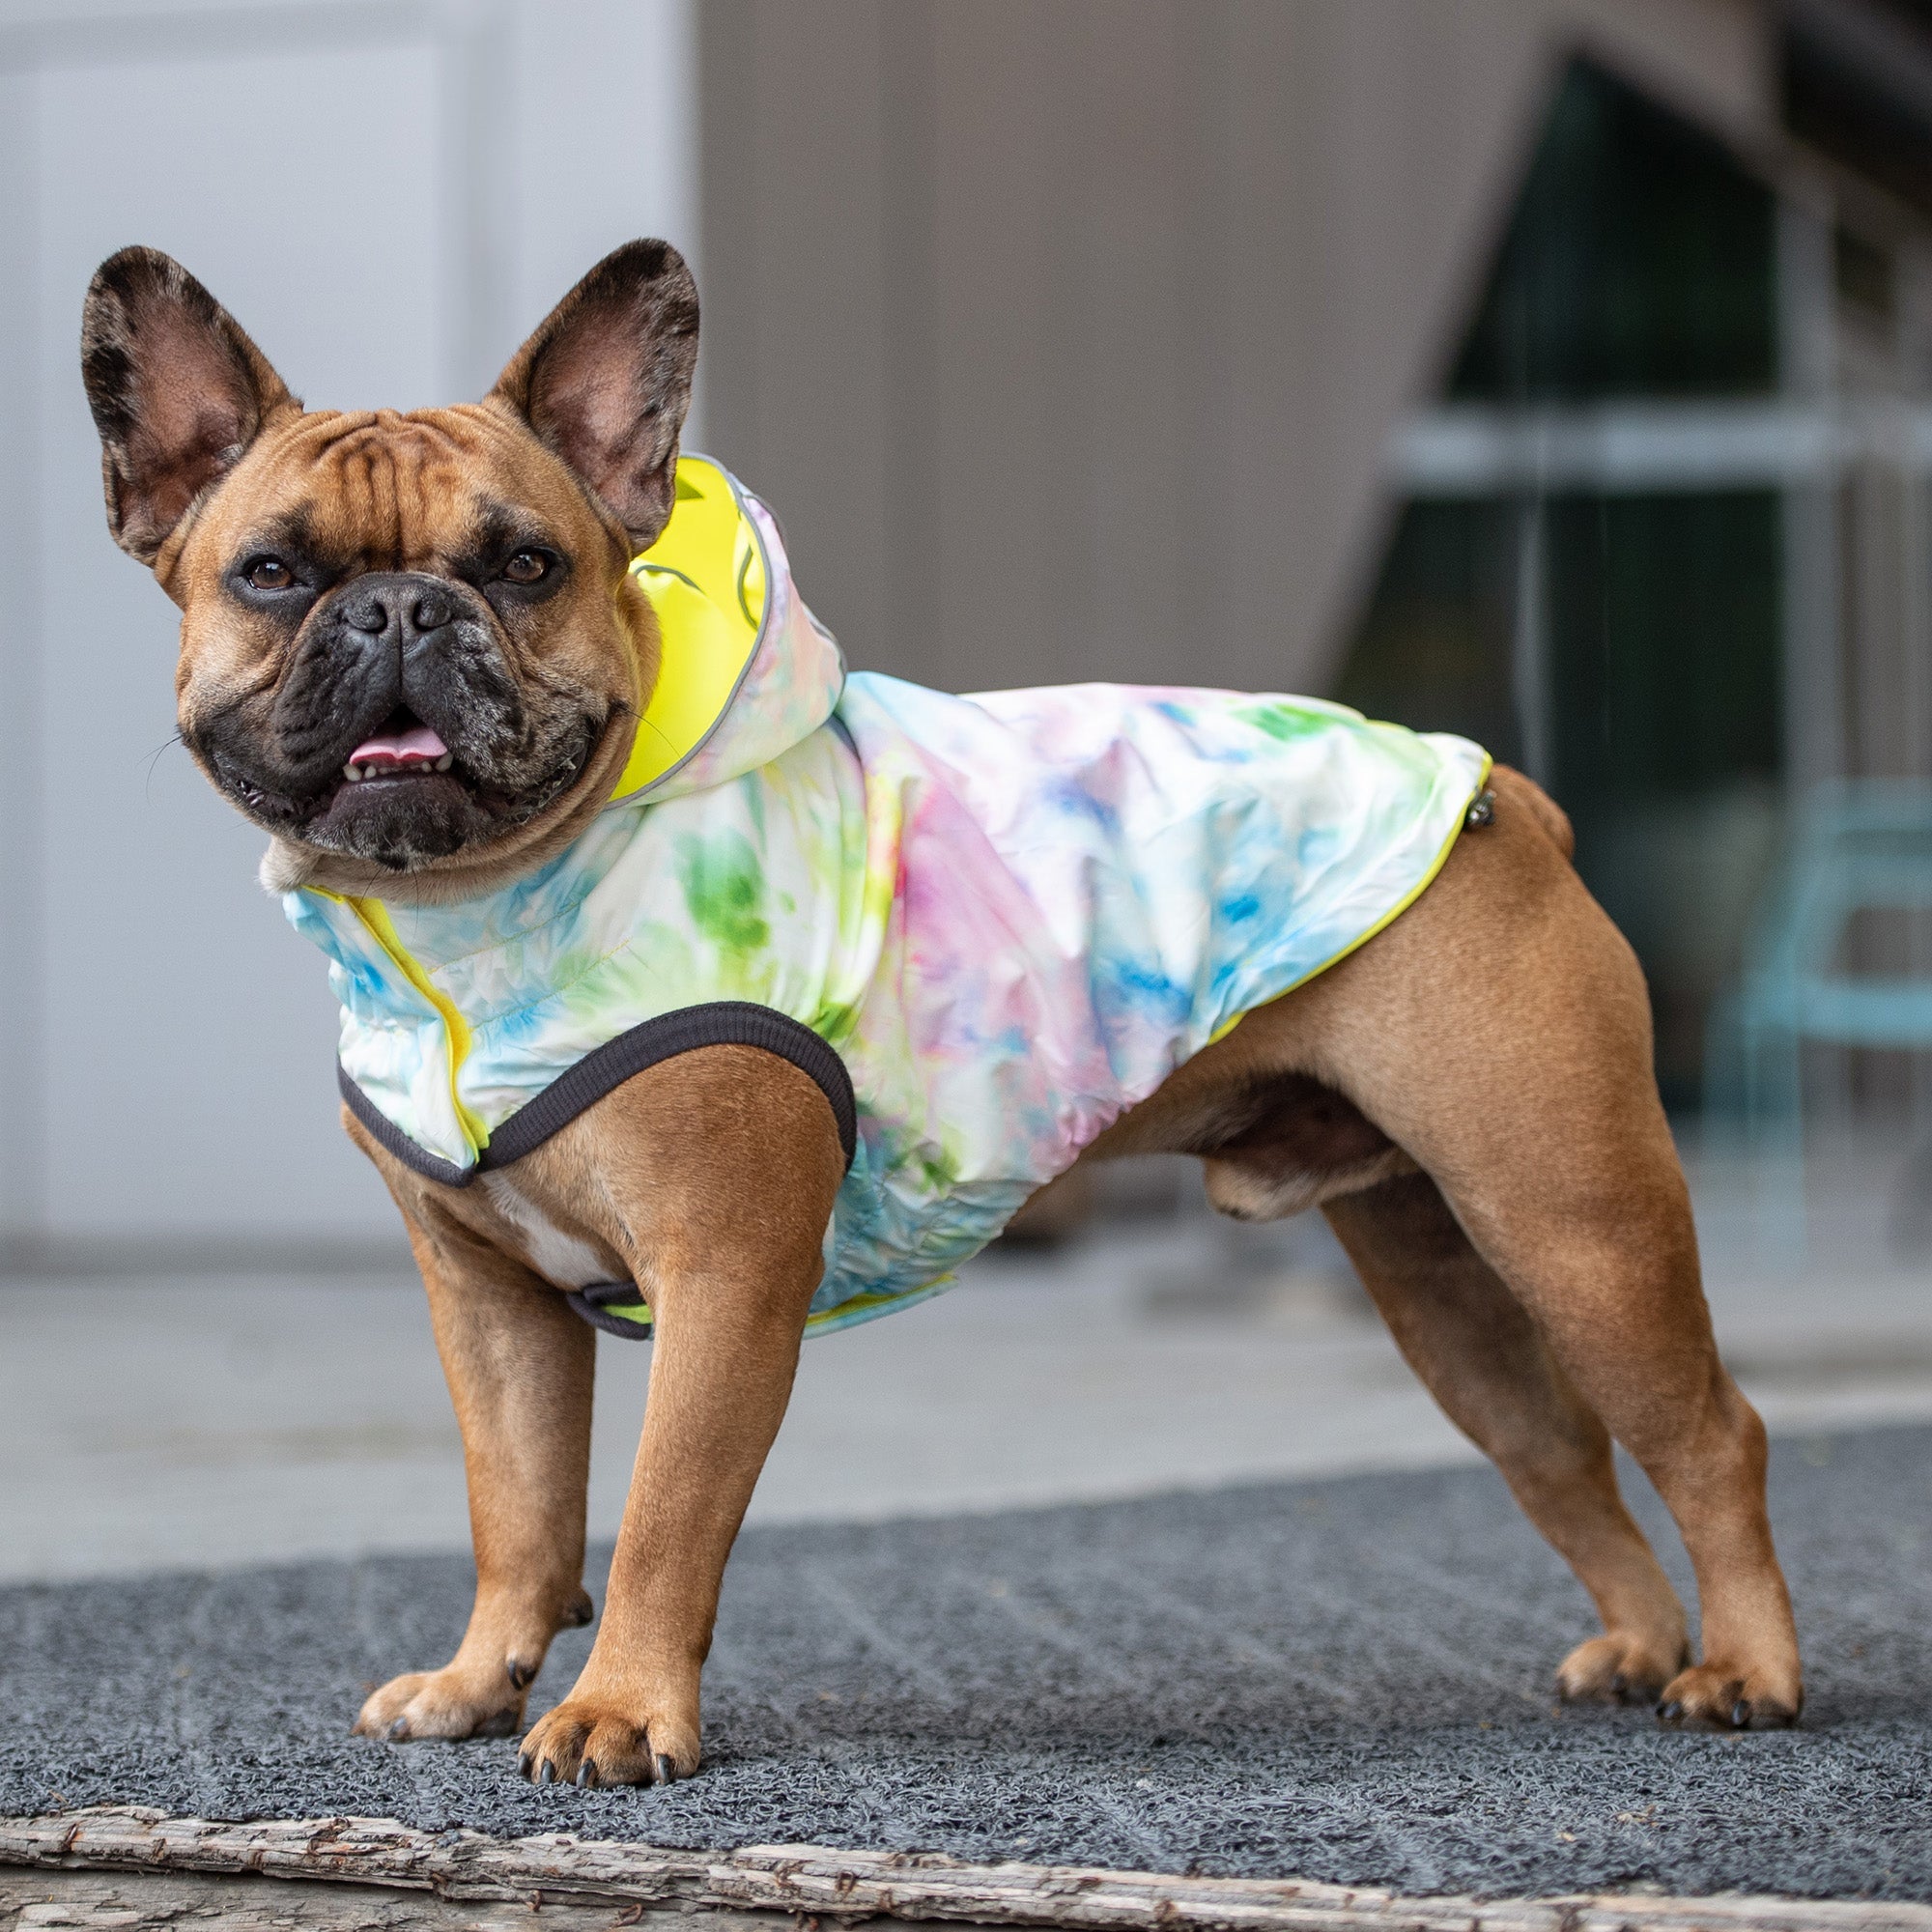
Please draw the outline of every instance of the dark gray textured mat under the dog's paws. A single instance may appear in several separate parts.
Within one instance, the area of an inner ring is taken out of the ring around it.
[[[707,1764],[668,1791],[537,1791],[514,1741],[348,1735],[371,1683],[448,1656],[460,1559],[8,1588],[0,1814],[1932,1899],[1932,1430],[1779,1443],[1772,1486],[1810,1675],[1793,1733],[1557,1710],[1588,1605],[1490,1470],[1447,1470],[752,1530]],[[1669,1561],[1683,1584],[1673,1538]],[[533,1714],[589,1634],[558,1640]]]

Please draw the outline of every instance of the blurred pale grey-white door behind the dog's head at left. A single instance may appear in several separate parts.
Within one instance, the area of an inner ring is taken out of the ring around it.
[[[0,1252],[398,1238],[321,958],[170,742],[87,276],[168,249],[311,406],[473,396],[609,247],[694,240],[694,102],[686,0],[0,4]]]

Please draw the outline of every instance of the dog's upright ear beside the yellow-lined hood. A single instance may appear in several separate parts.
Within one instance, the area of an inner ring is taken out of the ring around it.
[[[497,379],[516,410],[647,551],[676,500],[678,431],[697,365],[697,284],[668,242],[626,242]]]

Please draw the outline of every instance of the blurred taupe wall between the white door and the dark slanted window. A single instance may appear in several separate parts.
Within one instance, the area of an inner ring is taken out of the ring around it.
[[[1565,54],[1752,0],[705,0],[711,439],[854,663],[1321,690]]]

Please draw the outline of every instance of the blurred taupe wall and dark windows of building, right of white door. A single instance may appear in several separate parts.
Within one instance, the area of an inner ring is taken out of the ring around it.
[[[715,0],[701,68],[711,437],[854,661],[1482,738],[1696,1107],[1787,800],[1932,773],[1932,10]]]

